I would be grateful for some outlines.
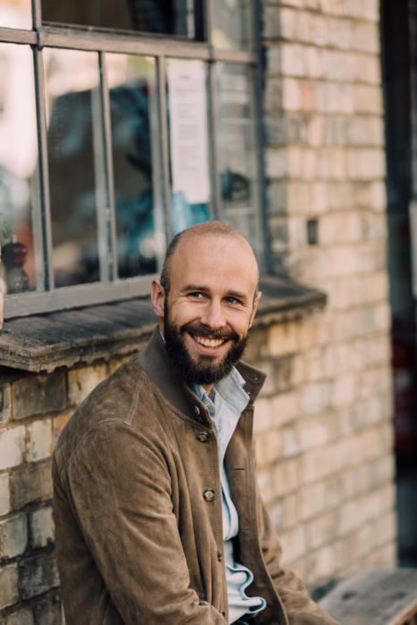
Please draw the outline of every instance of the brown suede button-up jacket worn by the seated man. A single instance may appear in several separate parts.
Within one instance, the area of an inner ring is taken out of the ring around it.
[[[279,566],[254,475],[253,402],[264,375],[238,370],[251,402],[225,462],[239,515],[236,559],[254,573],[247,593],[267,603],[256,622],[335,625]],[[73,415],[53,476],[67,625],[228,623],[216,437],[157,331]]]

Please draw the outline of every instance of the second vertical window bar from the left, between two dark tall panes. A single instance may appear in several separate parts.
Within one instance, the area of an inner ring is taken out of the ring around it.
[[[98,53],[100,68],[101,130],[103,141],[102,172],[104,174],[104,202],[97,203],[98,245],[100,250],[100,274],[104,280],[116,280],[119,276],[117,259],[117,232],[114,207],[112,121],[110,97],[105,69],[105,54]],[[93,120],[94,122],[94,120]],[[98,182],[98,180],[97,180]]]

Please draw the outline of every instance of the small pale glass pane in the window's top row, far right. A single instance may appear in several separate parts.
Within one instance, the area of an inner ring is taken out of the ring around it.
[[[213,46],[221,50],[249,47],[249,11],[249,0],[213,0]]]

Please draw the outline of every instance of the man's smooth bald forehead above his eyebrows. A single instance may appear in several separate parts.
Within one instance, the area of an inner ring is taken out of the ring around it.
[[[254,291],[258,268],[252,248],[242,237],[184,237],[172,254],[171,288],[188,283]]]

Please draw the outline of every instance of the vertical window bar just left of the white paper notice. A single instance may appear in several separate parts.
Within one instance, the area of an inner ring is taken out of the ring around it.
[[[165,63],[162,56],[156,57],[156,81],[157,81],[157,108],[159,120],[159,147],[163,185],[163,209],[165,212],[165,229],[168,240],[172,237],[171,226],[171,184],[170,184],[170,154],[168,140],[167,123],[167,101],[166,101],[166,72]]]

